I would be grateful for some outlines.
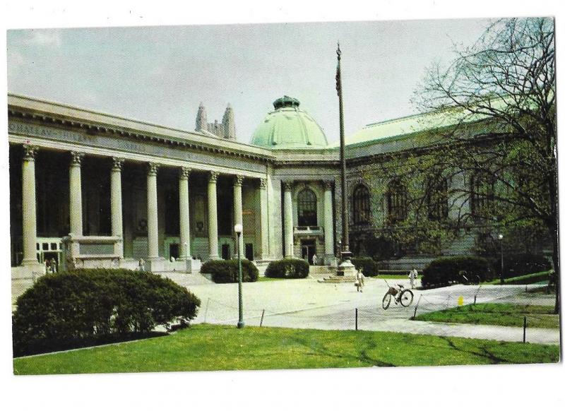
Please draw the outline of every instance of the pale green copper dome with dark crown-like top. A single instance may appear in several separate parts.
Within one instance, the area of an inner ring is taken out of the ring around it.
[[[257,127],[251,144],[273,150],[327,147],[326,134],[299,105],[298,100],[287,95],[275,100],[275,111],[267,114]]]

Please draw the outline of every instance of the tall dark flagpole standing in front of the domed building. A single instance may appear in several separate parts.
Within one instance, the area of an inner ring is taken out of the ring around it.
[[[341,261],[347,261],[351,258],[349,250],[349,219],[347,207],[347,182],[345,181],[345,132],[343,131],[343,97],[341,94],[341,50],[338,42],[338,69],[335,73],[335,88],[338,90],[338,99],[340,102],[340,165],[341,165]]]

